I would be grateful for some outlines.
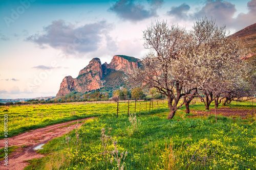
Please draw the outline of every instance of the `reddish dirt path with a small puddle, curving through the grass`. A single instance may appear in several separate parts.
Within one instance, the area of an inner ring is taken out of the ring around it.
[[[37,145],[41,143],[47,143],[48,141],[52,140],[53,138],[60,137],[67,132],[68,127],[70,130],[76,128],[76,124],[70,125],[75,122],[80,122],[82,120],[88,120],[90,118],[78,119],[73,120],[66,123],[51,125],[46,128],[40,128],[31,130],[29,132],[25,132],[23,134],[19,134],[8,139],[8,147],[11,146],[21,146],[26,145],[27,148],[19,147],[18,150],[13,152],[11,155],[8,155],[8,166],[4,165],[4,161],[2,160],[0,163],[0,169],[10,169],[10,170],[21,170],[24,169],[28,165],[26,160],[34,159],[34,158],[41,158],[44,155],[36,153],[33,150]],[[84,123],[84,122],[83,122]],[[83,123],[78,124],[81,126]],[[4,139],[0,140],[0,148],[4,148]]]

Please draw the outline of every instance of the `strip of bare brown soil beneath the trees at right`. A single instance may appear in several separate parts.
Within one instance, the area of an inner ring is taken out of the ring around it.
[[[209,115],[215,115],[215,109],[210,109],[209,111],[190,110],[190,113],[194,114],[194,116],[188,116],[188,117],[209,116]],[[232,118],[241,117],[242,119],[250,119],[252,115],[252,110],[222,107],[222,108],[217,108],[217,115],[232,117]]]

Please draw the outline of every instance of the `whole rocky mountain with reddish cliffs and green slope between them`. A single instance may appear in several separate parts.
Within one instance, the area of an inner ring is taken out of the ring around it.
[[[138,68],[140,59],[124,55],[116,55],[110,64],[101,64],[99,58],[93,58],[89,65],[80,70],[77,78],[65,77],[56,97],[66,95],[72,91],[88,92],[104,88],[105,90],[116,90],[132,85],[127,81],[127,74],[131,74],[133,68]]]

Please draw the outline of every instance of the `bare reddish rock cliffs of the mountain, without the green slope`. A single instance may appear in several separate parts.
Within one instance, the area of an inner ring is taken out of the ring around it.
[[[104,76],[107,76],[111,70],[130,74],[132,69],[138,68],[139,62],[140,60],[134,57],[116,55],[110,64],[101,65],[99,58],[93,58],[88,66],[80,70],[77,78],[67,76],[62,80],[56,97],[66,95],[71,91],[84,93],[100,89],[104,87]]]

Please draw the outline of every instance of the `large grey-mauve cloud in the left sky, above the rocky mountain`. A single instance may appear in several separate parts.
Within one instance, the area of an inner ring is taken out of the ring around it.
[[[45,27],[44,33],[31,35],[26,40],[38,44],[41,48],[49,45],[65,54],[88,53],[98,50],[102,37],[108,35],[112,29],[113,25],[106,21],[75,27],[59,19]]]

